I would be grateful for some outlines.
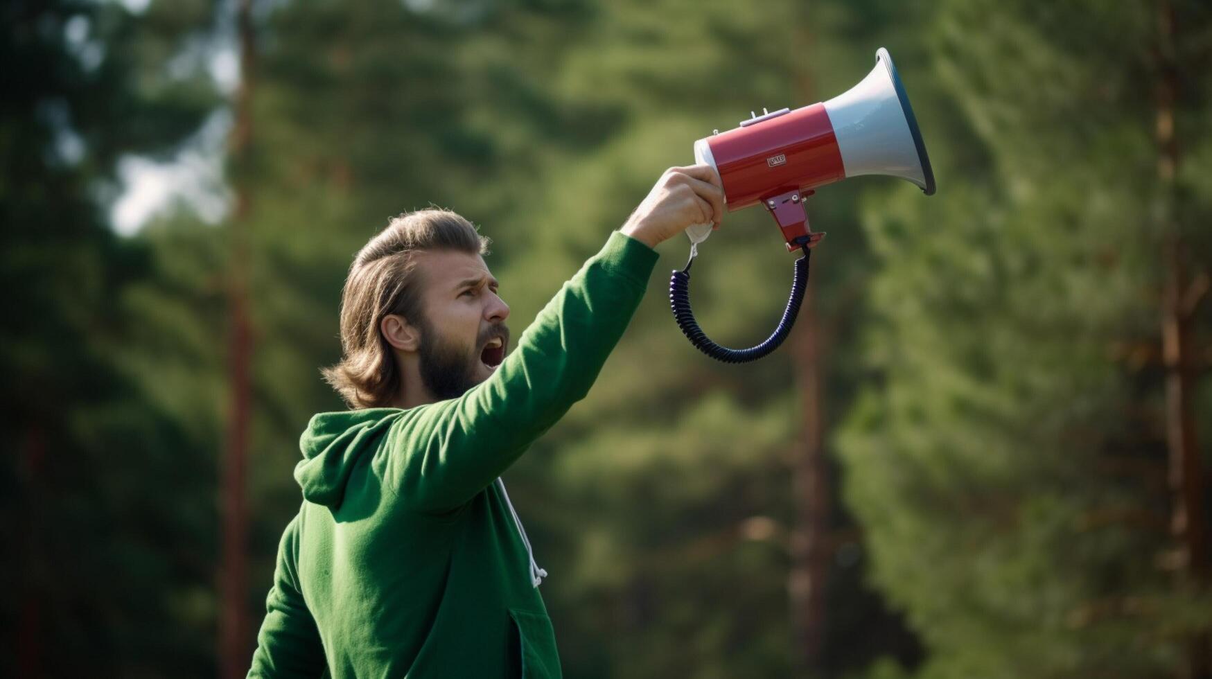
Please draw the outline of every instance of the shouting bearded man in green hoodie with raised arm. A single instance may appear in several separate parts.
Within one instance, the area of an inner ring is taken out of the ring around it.
[[[505,358],[509,307],[469,222],[394,219],[358,253],[325,371],[351,410],[311,418],[248,677],[555,678],[521,521],[499,480],[584,398],[657,244],[724,215],[707,165],[668,170]]]

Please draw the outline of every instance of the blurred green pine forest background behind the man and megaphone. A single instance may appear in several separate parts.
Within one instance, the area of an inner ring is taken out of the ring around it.
[[[570,678],[1212,677],[1212,5],[7,0],[6,677],[242,675],[341,285],[430,202],[515,332],[691,144],[897,59],[939,192],[859,178],[771,359],[662,249],[507,474]],[[159,210],[148,186],[168,187]],[[142,198],[141,198],[142,196]],[[761,210],[696,267],[765,336]]]

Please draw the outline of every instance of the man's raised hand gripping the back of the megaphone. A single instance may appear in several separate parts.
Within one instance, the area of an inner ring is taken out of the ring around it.
[[[711,222],[719,227],[722,219],[720,176],[710,165],[691,165],[665,170],[619,230],[656,247],[691,224]]]

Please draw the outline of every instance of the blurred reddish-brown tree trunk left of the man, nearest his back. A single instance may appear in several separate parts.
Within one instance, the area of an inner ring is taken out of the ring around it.
[[[235,205],[230,222],[231,261],[228,279],[230,401],[227,450],[223,456],[222,473],[223,555],[219,571],[222,598],[219,677],[224,679],[246,675],[252,660],[246,607],[248,510],[245,489],[252,401],[252,327],[248,314],[248,236],[246,233],[250,211],[247,165],[252,144],[251,98],[255,63],[252,0],[240,0],[236,30],[240,44],[240,89],[236,91],[235,126],[231,131],[229,149],[235,170]]]

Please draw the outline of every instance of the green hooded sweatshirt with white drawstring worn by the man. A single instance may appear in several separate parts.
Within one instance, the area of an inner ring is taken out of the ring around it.
[[[616,232],[484,383],[311,418],[248,677],[561,675],[498,477],[588,393],[656,261]]]

